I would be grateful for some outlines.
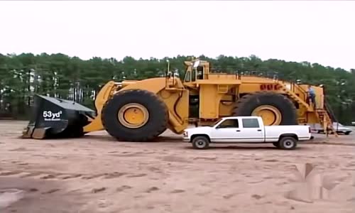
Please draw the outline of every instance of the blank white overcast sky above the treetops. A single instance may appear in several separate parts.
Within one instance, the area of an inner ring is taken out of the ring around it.
[[[257,55],[355,68],[355,1],[0,1],[0,53]]]

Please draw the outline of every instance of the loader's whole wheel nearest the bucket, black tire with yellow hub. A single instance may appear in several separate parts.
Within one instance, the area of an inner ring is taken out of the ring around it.
[[[133,117],[134,113],[138,119]],[[114,94],[104,104],[102,124],[118,141],[146,142],[165,131],[168,115],[165,103],[153,92],[128,89]]]

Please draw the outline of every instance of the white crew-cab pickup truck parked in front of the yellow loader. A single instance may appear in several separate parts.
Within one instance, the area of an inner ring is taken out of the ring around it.
[[[310,126],[264,126],[260,116],[224,117],[212,126],[184,132],[184,141],[197,149],[209,148],[209,143],[273,143],[277,148],[292,150],[298,141],[312,138]]]

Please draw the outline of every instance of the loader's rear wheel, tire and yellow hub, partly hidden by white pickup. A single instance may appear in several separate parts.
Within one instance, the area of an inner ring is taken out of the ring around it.
[[[297,125],[295,104],[283,94],[255,92],[246,94],[235,103],[234,116],[261,116],[266,126]]]

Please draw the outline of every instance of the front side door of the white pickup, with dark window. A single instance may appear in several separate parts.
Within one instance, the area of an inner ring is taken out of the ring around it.
[[[240,133],[238,119],[225,119],[212,131],[211,141],[214,143],[239,142]]]

